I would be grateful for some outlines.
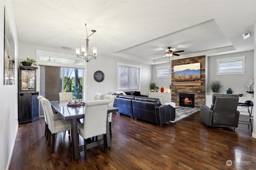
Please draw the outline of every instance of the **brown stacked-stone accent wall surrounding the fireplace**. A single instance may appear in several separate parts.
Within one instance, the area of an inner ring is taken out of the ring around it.
[[[172,82],[173,66],[182,64],[201,63],[201,86],[194,85],[173,85],[172,84],[172,102],[179,106],[179,94],[195,94],[195,107],[200,108],[201,104],[205,104],[205,56],[191,57],[187,59],[172,60]]]

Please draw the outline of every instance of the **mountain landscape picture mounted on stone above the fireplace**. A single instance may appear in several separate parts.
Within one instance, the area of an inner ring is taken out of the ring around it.
[[[190,80],[201,78],[201,64],[182,64],[173,66],[173,79],[174,80]]]

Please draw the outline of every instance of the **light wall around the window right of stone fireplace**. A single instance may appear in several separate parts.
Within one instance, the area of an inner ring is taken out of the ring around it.
[[[231,75],[216,75],[216,60],[232,57],[245,56],[245,74],[231,74]],[[212,80],[220,80],[223,85],[220,93],[226,94],[226,90],[231,88],[233,94],[244,94],[243,97],[248,95],[246,91],[249,89],[245,87],[249,83],[251,78],[254,78],[254,51],[245,51],[241,53],[232,53],[226,55],[217,55],[208,57],[208,64],[206,66],[206,93],[212,91],[208,88]]]

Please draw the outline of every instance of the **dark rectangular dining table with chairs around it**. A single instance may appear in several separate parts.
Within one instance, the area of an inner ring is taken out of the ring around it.
[[[73,158],[75,160],[80,158],[80,152],[84,150],[84,146],[79,147],[79,135],[77,129],[78,119],[84,118],[85,107],[84,105],[77,105],[77,106],[70,106],[68,102],[60,102],[60,101],[50,101],[51,106],[54,110],[61,115],[62,119],[70,121],[71,123],[71,140],[72,140],[72,151],[73,151]],[[117,107],[108,107],[107,113],[116,112],[118,111]],[[107,147],[111,147],[110,142],[110,130],[109,130],[109,122],[108,117],[106,121],[106,139],[107,139]],[[100,139],[100,138],[98,138]],[[87,149],[96,147],[98,145],[103,144],[103,140],[94,141],[86,145]]]

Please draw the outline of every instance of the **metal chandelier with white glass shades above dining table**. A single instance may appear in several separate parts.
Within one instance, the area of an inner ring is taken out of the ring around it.
[[[92,30],[92,34],[88,36],[87,34],[87,28],[86,28],[86,23],[85,23],[85,29],[86,29],[86,45],[81,46],[81,52],[82,54],[80,55],[80,48],[76,47],[76,55],[77,57],[84,59],[84,61],[89,62],[92,59],[96,59],[97,55],[97,47],[92,47],[92,54],[89,52],[89,37],[96,32],[96,30]]]

